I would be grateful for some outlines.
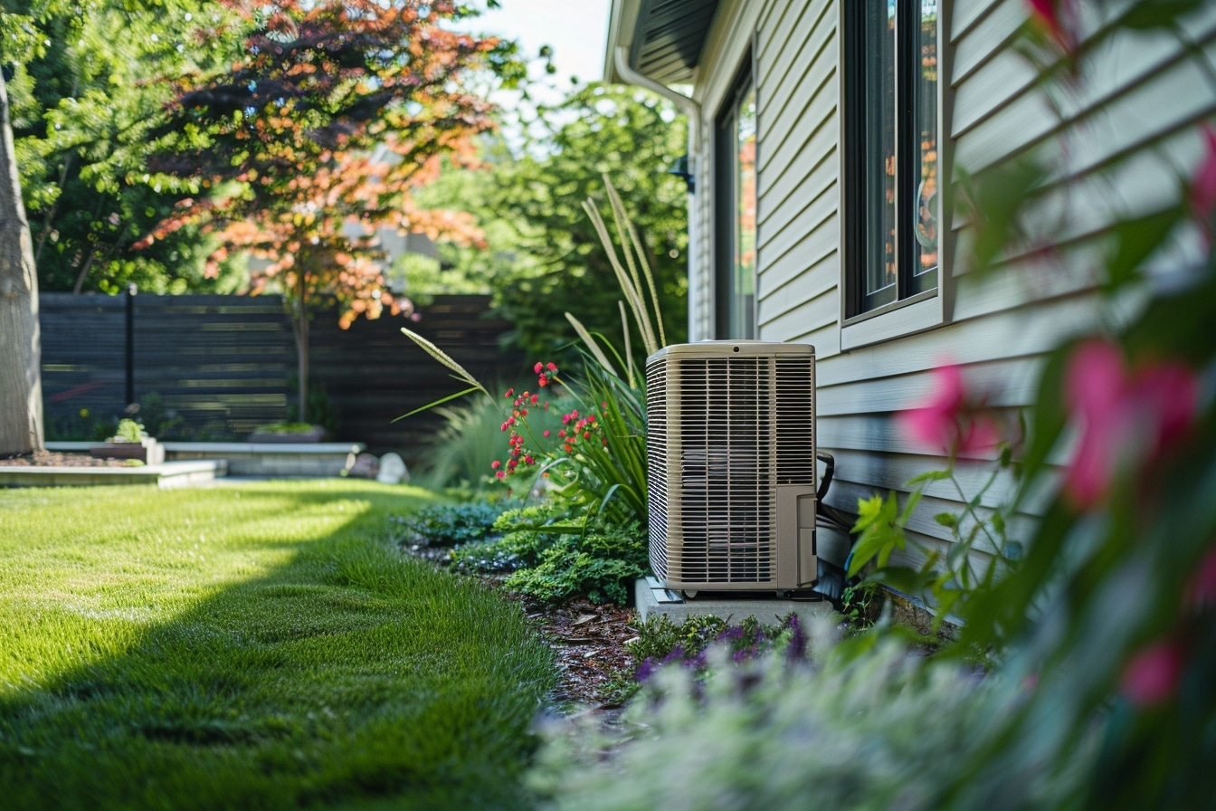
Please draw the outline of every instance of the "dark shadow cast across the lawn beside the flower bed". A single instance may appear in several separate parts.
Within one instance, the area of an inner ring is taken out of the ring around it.
[[[5,807],[522,807],[547,651],[383,542],[399,496],[241,490],[270,520],[375,500],[291,558],[0,700]]]

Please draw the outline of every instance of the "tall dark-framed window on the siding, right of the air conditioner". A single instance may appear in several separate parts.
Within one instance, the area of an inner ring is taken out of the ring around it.
[[[938,289],[938,1],[844,4],[845,319]]]

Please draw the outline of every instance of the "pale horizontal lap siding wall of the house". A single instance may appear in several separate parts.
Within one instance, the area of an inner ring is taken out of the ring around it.
[[[942,180],[948,186],[959,167],[975,173],[1040,146],[1052,152],[1066,146],[1066,171],[1081,182],[1040,207],[1041,226],[1051,229],[1046,232],[1059,246],[1057,260],[1032,264],[1009,255],[1000,272],[978,281],[966,261],[973,238],[968,221],[958,214],[941,218],[948,224],[942,229],[942,323],[846,351],[840,325],[839,1],[724,2],[706,43],[694,91],[705,122],[698,187],[714,187],[715,112],[754,41],[759,337],[816,347],[818,444],[835,455],[829,501],[845,509],[855,509],[858,497],[903,489],[912,475],[941,466],[941,458],[902,437],[895,419],[931,393],[935,366],[962,365],[966,379],[989,392],[996,406],[1012,412],[1028,405],[1042,353],[1096,325],[1098,242],[1108,224],[1167,201],[1177,193],[1176,178],[1188,176],[1200,158],[1198,123],[1216,109],[1216,85],[1177,41],[1125,35],[1090,53],[1086,72],[1094,79],[1055,102],[1071,119],[1062,128],[1052,102],[1034,84],[1035,72],[1013,47],[1026,9],[1024,0],[942,2]],[[1118,4],[1086,4],[1086,30],[1114,13]],[[1216,4],[1189,35],[1216,66]],[[700,232],[711,235],[713,196],[698,198]],[[1182,238],[1156,264],[1167,274],[1193,263],[1199,247],[1197,235]],[[710,238],[691,272],[692,339],[714,334],[711,261]],[[961,469],[968,492],[980,486],[989,467]],[[1000,481],[985,503],[1003,500],[1010,488]],[[950,483],[933,485],[912,528],[927,539],[945,539],[947,531],[931,516],[958,508]]]

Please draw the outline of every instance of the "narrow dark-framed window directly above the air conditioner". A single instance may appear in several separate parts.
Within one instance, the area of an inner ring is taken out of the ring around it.
[[[754,338],[756,270],[756,90],[744,60],[715,130],[715,333]]]

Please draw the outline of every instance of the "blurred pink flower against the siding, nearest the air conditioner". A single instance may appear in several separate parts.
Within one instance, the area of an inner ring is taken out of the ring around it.
[[[933,377],[934,395],[900,417],[908,437],[947,454],[973,455],[995,447],[1001,433],[991,418],[976,412],[976,406],[968,401],[962,370],[947,364],[935,368]]]

